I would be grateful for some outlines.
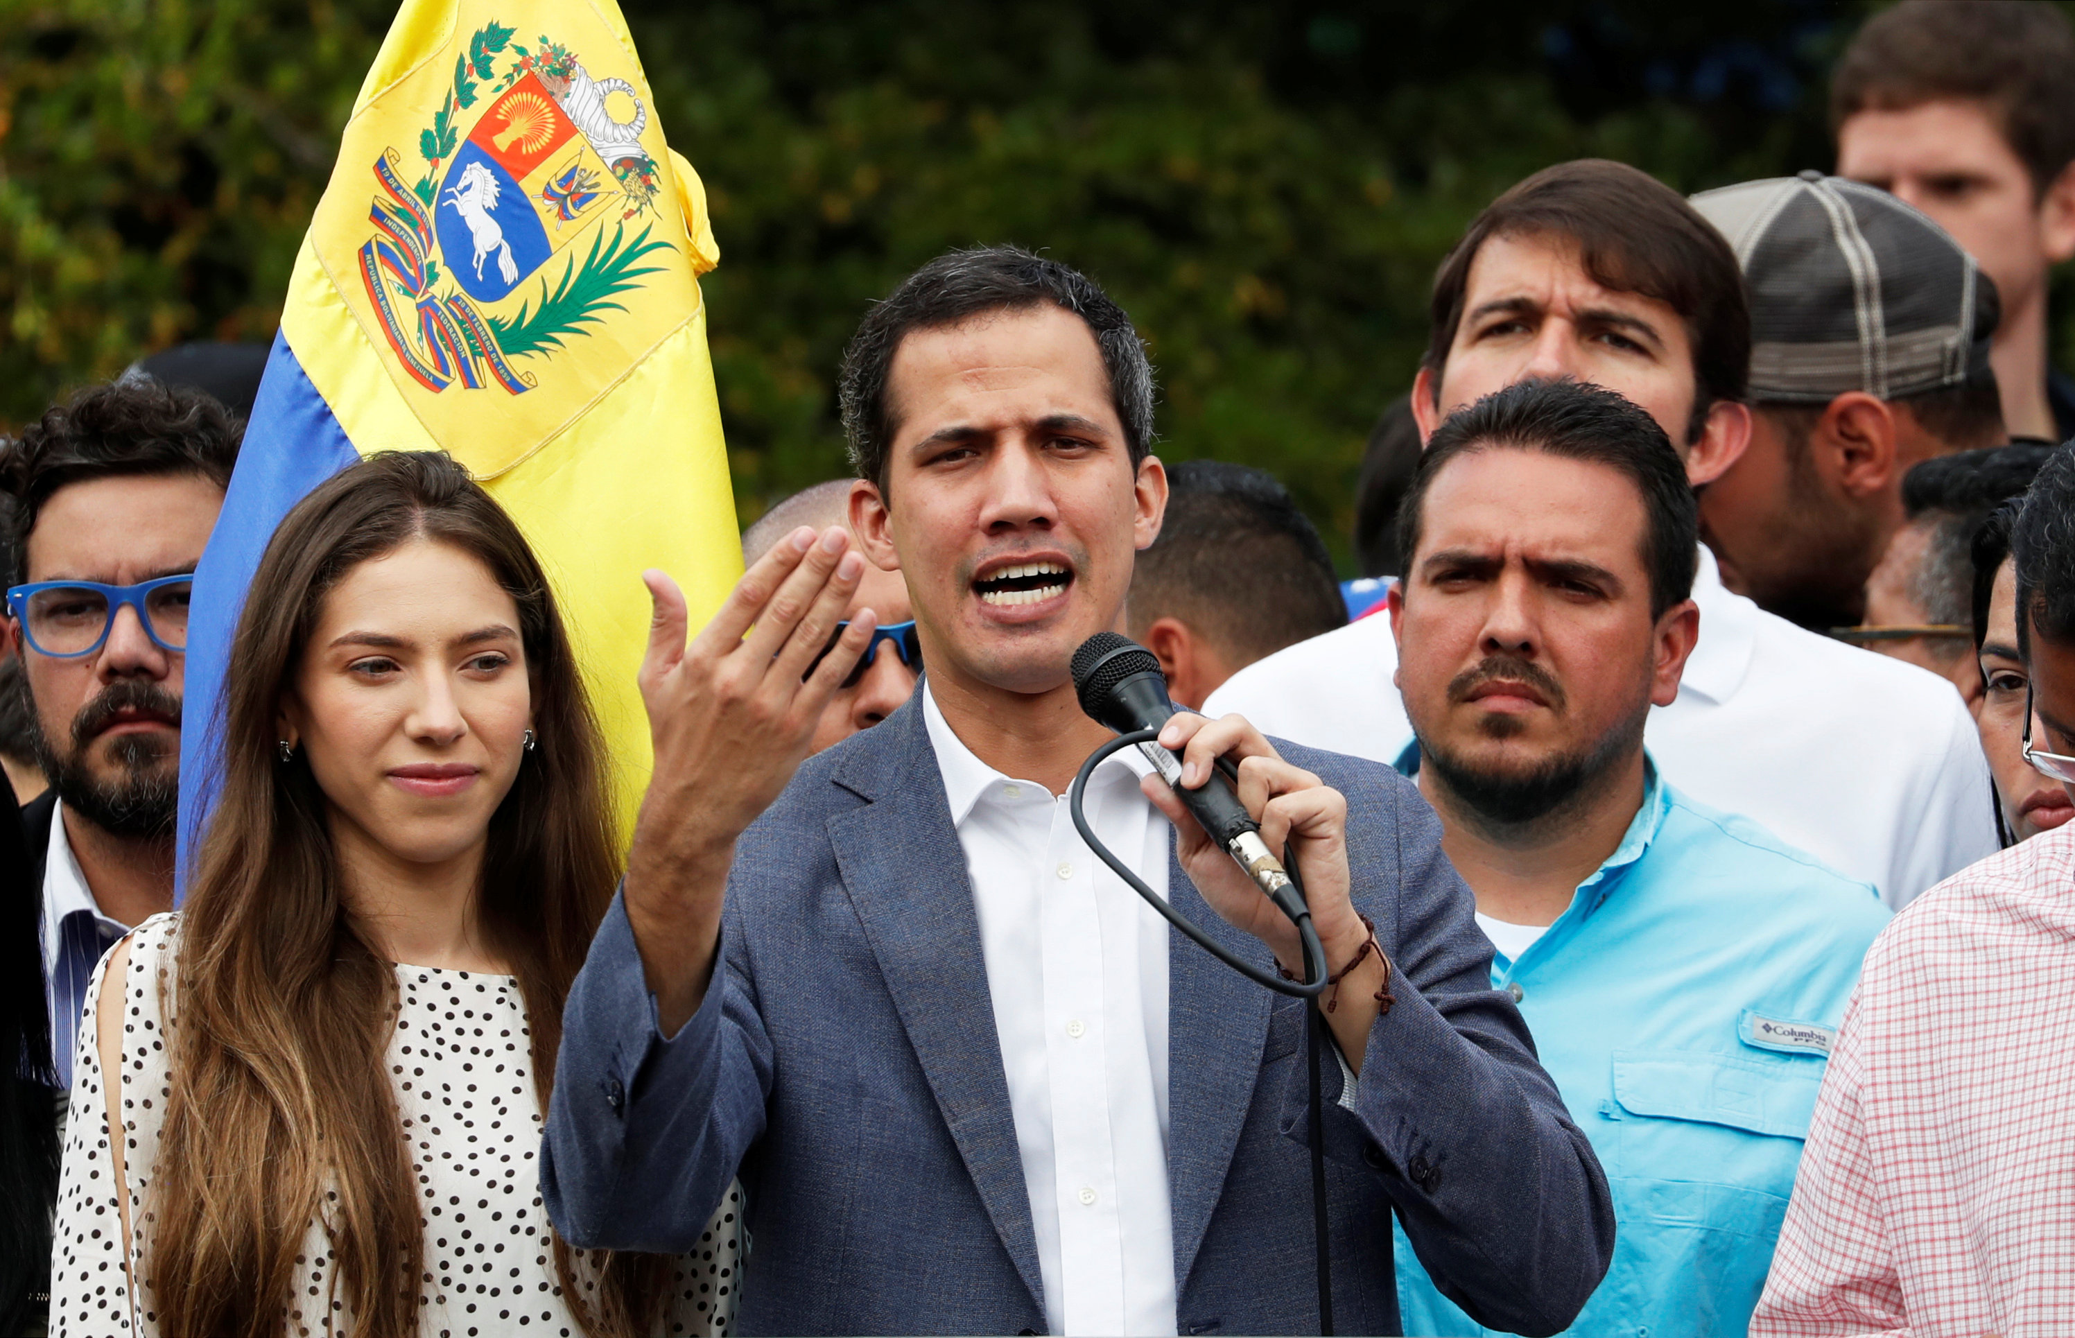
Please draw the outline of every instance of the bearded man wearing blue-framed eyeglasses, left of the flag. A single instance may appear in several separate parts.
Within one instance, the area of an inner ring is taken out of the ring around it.
[[[93,965],[172,909],[187,593],[241,431],[214,398],[137,378],[85,390],[0,452],[17,502],[6,637],[50,778],[23,824],[62,1087]]]

